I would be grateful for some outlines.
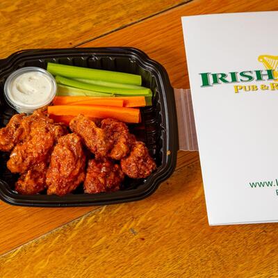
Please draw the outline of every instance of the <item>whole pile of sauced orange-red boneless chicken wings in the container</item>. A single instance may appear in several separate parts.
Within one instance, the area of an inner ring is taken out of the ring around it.
[[[0,151],[11,152],[8,169],[20,174],[18,193],[47,189],[48,195],[63,196],[81,183],[85,193],[113,192],[120,189],[125,174],[141,179],[156,169],[145,144],[136,141],[123,122],[108,118],[97,125],[79,115],[70,129],[73,133],[67,134],[67,127],[54,123],[45,108],[29,116],[17,114],[0,129]],[[95,159],[86,169],[88,150]]]

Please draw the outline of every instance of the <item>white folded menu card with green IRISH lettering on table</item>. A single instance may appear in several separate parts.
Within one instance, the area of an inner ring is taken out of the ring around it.
[[[208,222],[277,222],[278,12],[182,24]]]

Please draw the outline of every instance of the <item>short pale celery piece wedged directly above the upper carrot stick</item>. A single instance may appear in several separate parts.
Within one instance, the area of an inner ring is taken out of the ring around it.
[[[79,88],[73,88],[65,85],[57,84],[57,96],[84,96],[84,97],[115,97],[115,95],[106,94],[105,92],[94,92],[89,90],[83,90]]]

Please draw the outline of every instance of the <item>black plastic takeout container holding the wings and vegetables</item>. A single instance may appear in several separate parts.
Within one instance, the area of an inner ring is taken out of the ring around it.
[[[153,105],[141,108],[142,123],[131,124],[129,128],[138,140],[146,143],[158,169],[147,179],[126,178],[121,190],[115,193],[84,194],[81,185],[64,197],[46,193],[19,195],[13,190],[18,176],[6,168],[9,154],[0,152],[1,199],[22,206],[91,206],[136,201],[154,193],[174,171],[179,148],[174,92],[165,69],[142,51],[129,47],[19,51],[0,60],[0,127],[16,113],[3,97],[7,77],[21,67],[46,69],[48,62],[140,74],[142,85],[153,91]]]

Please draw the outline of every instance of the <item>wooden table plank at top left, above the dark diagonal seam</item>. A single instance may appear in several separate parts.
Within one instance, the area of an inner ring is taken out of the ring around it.
[[[21,49],[74,47],[187,1],[1,0],[0,56]]]

